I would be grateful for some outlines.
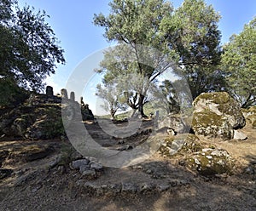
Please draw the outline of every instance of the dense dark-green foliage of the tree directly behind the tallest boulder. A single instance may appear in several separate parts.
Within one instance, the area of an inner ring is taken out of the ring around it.
[[[203,92],[218,91],[224,77],[218,71],[220,62],[220,15],[203,0],[185,0],[172,16],[165,17],[161,32],[168,46],[177,53],[193,99]]]

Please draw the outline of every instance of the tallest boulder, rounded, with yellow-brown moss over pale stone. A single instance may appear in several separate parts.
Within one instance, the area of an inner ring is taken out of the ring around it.
[[[193,102],[192,128],[197,135],[230,140],[246,125],[240,105],[226,92],[203,93]]]

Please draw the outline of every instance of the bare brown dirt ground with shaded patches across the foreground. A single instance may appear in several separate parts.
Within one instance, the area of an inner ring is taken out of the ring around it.
[[[247,168],[256,164],[256,131],[249,126],[242,131],[247,140],[207,140],[236,158],[237,174],[213,178],[201,177],[156,153],[136,167],[103,168],[100,176],[91,180],[68,166],[54,165],[67,145],[65,140],[2,139],[0,151],[14,152],[1,167],[13,173],[0,180],[0,210],[256,210],[256,173],[247,174]],[[99,133],[95,128],[95,135]],[[15,154],[32,145],[47,145],[52,151],[32,161],[24,161],[22,152]],[[95,189],[88,190],[84,185],[88,182]],[[151,187],[145,191],[96,191],[113,184]],[[169,188],[160,190],[164,184]]]

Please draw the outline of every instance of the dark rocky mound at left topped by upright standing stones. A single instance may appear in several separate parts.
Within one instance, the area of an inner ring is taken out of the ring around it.
[[[0,109],[0,136],[22,137],[32,140],[52,139],[65,135],[61,108],[67,110],[67,117],[73,118],[73,108],[79,111],[79,119],[92,120],[94,116],[84,102],[79,105],[75,95],[67,97],[67,90],[61,89],[62,96],[53,95],[53,88],[47,86],[46,94],[31,94],[20,106]],[[68,102],[65,106],[65,101]],[[62,106],[61,106],[62,103]],[[63,106],[64,105],[64,106]]]

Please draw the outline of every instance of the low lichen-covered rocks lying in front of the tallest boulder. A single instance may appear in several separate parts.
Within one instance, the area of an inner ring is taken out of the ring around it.
[[[232,174],[235,160],[228,151],[218,149],[195,134],[166,136],[160,146],[163,157],[177,159],[178,163],[202,176]]]

